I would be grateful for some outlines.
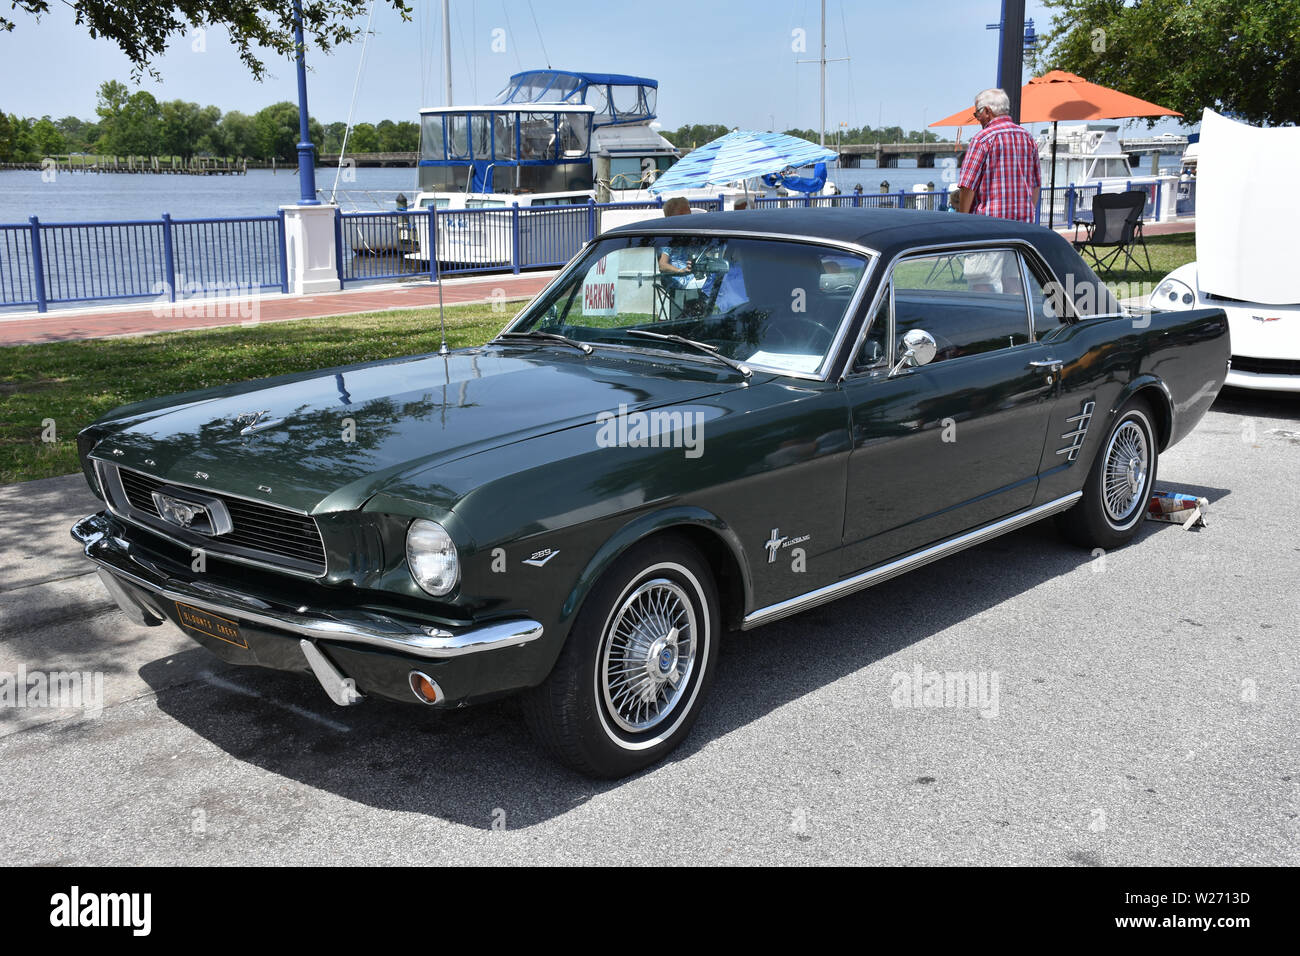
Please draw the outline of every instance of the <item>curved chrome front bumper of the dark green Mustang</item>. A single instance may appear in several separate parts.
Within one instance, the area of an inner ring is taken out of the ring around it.
[[[86,557],[99,566],[100,578],[113,600],[133,620],[142,624],[160,624],[162,617],[135,600],[122,583],[143,588],[166,601],[181,601],[299,637],[364,644],[429,659],[516,646],[542,636],[542,626],[526,618],[478,627],[443,628],[377,611],[326,611],[307,606],[281,610],[252,594],[169,576],[143,555],[134,554],[130,541],[120,537],[113,524],[101,514],[88,515],[73,525],[72,535],[84,546]]]

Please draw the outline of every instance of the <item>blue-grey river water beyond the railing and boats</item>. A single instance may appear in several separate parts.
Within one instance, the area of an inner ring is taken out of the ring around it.
[[[1149,157],[1135,177],[1145,178]],[[1178,156],[1161,159],[1161,166],[1178,172]],[[359,200],[360,208],[391,206],[398,191],[415,198],[415,169],[351,169],[354,178],[339,190]],[[913,185],[933,182],[942,189],[944,168],[918,169],[915,160],[900,160],[894,169],[876,169],[868,161],[859,169],[832,169],[831,181],[850,193],[862,183],[866,193],[911,191]],[[333,187],[334,170],[318,169],[316,185],[326,194]],[[369,196],[367,196],[369,194]],[[292,169],[270,172],[254,169],[244,176],[155,176],[143,173],[55,173],[0,170],[0,224],[26,222],[39,216],[42,222],[104,222],[133,219],[173,219],[217,216],[270,216],[280,206],[298,202],[298,174]],[[376,202],[367,202],[373,198]],[[347,202],[343,208],[352,208]]]

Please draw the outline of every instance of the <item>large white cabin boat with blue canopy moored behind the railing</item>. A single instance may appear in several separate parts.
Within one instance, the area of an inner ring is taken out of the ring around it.
[[[601,209],[597,230],[656,217],[649,186],[679,152],[655,129],[659,83],[646,77],[526,70],[489,104],[420,111],[415,208],[464,211],[438,217],[437,256],[450,268],[511,263],[514,206],[520,265],[567,261],[586,239],[589,200],[638,203]],[[744,186],[723,190],[724,203]],[[716,199],[698,190],[688,199]],[[558,208],[537,215],[538,207]],[[412,259],[428,261],[433,243],[420,220],[406,237]]]

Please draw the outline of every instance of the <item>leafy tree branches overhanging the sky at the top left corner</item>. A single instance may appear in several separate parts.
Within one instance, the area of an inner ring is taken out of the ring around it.
[[[257,56],[270,51],[277,56],[294,53],[292,0],[64,0],[77,23],[91,36],[118,46],[131,61],[134,74],[153,73],[150,62],[176,38],[199,42],[213,27],[229,34],[239,59],[261,79],[266,65]],[[406,0],[387,0],[411,18]],[[34,18],[49,13],[51,0],[10,0],[12,9]],[[367,0],[303,0],[303,31],[308,43],[322,51],[350,43],[365,29]],[[0,30],[13,30],[14,21],[0,16]]]

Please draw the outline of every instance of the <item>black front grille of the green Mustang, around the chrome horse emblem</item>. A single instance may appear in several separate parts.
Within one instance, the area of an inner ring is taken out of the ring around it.
[[[127,468],[117,468],[117,475],[134,516],[147,519],[151,525],[164,529],[172,537],[186,541],[198,537],[164,524],[159,518],[153,492],[172,483]],[[230,532],[220,537],[200,538],[204,550],[212,554],[228,551],[246,558],[261,557],[264,563],[316,575],[325,572],[325,546],[311,516],[207,488],[195,490],[224,501],[234,524]]]

